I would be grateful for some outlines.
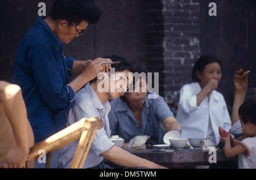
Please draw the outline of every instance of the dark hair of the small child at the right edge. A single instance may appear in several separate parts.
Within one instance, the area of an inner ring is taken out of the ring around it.
[[[241,117],[241,121],[246,124],[248,122],[256,125],[256,101],[249,99],[240,106],[238,114]]]

